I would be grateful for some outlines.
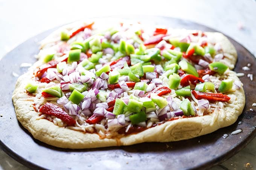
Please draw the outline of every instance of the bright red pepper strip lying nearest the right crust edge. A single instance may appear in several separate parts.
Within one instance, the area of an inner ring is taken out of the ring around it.
[[[192,94],[198,100],[199,99],[207,99],[211,102],[214,102],[214,101],[227,102],[230,100],[229,96],[223,95],[222,93],[205,93],[205,92],[198,92],[198,91],[193,90]]]

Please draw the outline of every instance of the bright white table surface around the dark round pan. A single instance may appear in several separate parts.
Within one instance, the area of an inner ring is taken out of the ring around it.
[[[118,14],[159,15],[204,24],[235,39],[256,56],[255,0],[0,0],[0,59],[45,30],[83,18]],[[256,168],[256,138],[212,169],[252,168]],[[28,168],[0,149],[2,169]]]

